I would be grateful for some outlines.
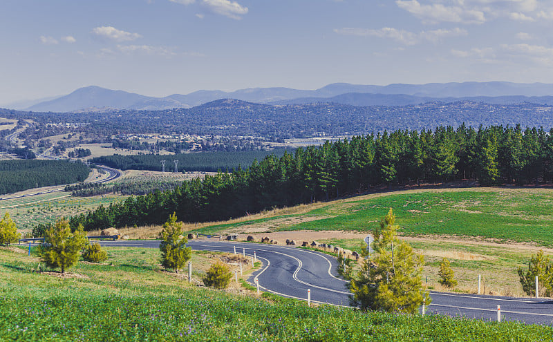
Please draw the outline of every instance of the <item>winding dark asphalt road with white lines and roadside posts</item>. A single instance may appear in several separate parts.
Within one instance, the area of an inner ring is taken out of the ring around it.
[[[158,248],[159,241],[102,241],[104,246]],[[216,240],[189,240],[194,250],[234,252],[257,256],[263,267],[250,276],[254,285],[258,278],[260,288],[290,298],[307,299],[332,305],[349,305],[346,281],[337,277],[337,261],[332,256],[316,251],[258,243],[234,243]],[[542,298],[514,298],[474,294],[431,292],[432,303],[427,314],[467,316],[484,321],[497,320],[497,306],[501,307],[502,321],[522,321],[528,324],[552,325],[553,301]]]

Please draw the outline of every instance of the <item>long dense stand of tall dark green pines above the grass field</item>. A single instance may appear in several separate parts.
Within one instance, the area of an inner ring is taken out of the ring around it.
[[[171,213],[187,222],[225,220],[315,200],[359,193],[371,186],[421,181],[478,180],[482,185],[553,181],[553,130],[520,126],[394,131],[326,142],[268,155],[247,169],[206,175],[171,191],[75,216],[85,229],[164,222]]]

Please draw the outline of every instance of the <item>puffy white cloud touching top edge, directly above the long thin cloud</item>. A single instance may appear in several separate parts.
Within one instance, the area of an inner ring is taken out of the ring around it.
[[[410,12],[423,23],[438,23],[449,21],[452,23],[484,23],[484,12],[464,6],[444,6],[442,3],[422,5],[417,0],[396,0],[397,6]],[[462,0],[460,1],[462,4]]]

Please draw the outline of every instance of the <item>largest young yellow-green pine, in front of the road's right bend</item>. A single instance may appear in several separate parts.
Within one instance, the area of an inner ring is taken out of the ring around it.
[[[422,256],[415,256],[408,243],[397,239],[398,226],[392,209],[382,218],[373,232],[374,253],[364,263],[349,284],[353,293],[351,303],[366,310],[414,313],[422,304],[431,302],[424,291],[420,273],[424,265]]]

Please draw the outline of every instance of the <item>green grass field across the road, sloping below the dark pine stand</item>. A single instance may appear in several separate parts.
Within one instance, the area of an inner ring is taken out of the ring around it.
[[[445,189],[401,191],[328,202],[307,213],[290,214],[293,223],[278,218],[243,221],[281,230],[370,231],[392,208],[406,236],[465,236],[553,246],[552,189]],[[229,229],[213,225],[203,231]]]

